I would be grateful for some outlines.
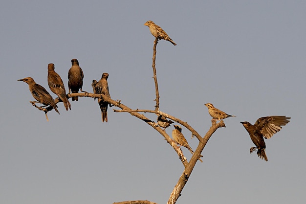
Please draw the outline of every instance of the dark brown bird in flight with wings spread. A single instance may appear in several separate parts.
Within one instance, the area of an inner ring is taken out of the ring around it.
[[[268,161],[265,154],[265,142],[263,138],[269,139],[274,134],[279,132],[282,127],[286,125],[291,117],[286,116],[265,116],[258,118],[254,125],[249,122],[240,122],[246,131],[249,133],[251,140],[256,145],[256,147],[250,148],[250,153],[257,149],[257,155],[260,159]]]

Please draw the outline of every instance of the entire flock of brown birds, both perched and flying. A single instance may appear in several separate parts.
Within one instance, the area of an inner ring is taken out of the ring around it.
[[[150,32],[155,38],[157,38],[157,40],[166,40],[171,42],[173,45],[176,45],[175,42],[168,36],[168,34],[161,27],[156,25],[153,21],[147,21],[144,25],[147,25],[149,27]],[[68,93],[70,93],[70,91],[72,93],[78,93],[79,90],[82,92],[86,92],[82,90],[84,74],[82,68],[80,68],[79,66],[78,60],[72,59],[71,63],[72,67],[68,71]],[[110,98],[109,85],[107,81],[108,77],[108,73],[103,73],[99,81],[92,80],[91,86],[93,88],[93,93],[104,94]],[[23,81],[29,85],[30,92],[32,93],[32,96],[37,100],[36,102],[44,104],[44,106],[51,106],[57,113],[60,114],[52,96],[49,94],[48,91],[44,89],[44,87],[39,84],[36,84],[33,78],[27,77],[18,81]],[[66,110],[71,110],[71,105],[66,96],[66,90],[63,80],[61,79],[60,75],[54,71],[54,64],[48,65],[48,85],[50,90],[63,101]],[[72,97],[72,101],[78,101],[78,97]],[[108,122],[107,110],[110,104],[101,98],[98,98],[98,103],[102,113],[102,122]],[[215,108],[211,103],[206,103],[205,106],[208,108],[208,113],[213,117],[212,121],[225,119],[227,117],[236,117],[234,115],[229,115],[227,113],[224,113],[223,111],[220,111],[219,109]],[[266,146],[263,138],[271,138],[274,134],[276,134],[282,129],[281,126],[284,126],[289,122],[289,119],[290,117],[275,115],[261,117],[257,119],[254,125],[246,121],[240,122],[246,129],[246,131],[249,133],[253,143],[256,145],[256,147],[250,148],[250,153],[256,151],[257,149],[258,157],[267,161],[268,158],[265,154]],[[163,115],[159,115],[157,117],[158,126],[164,128],[164,130],[168,128],[172,123],[174,122],[168,120]],[[172,137],[179,145],[178,147],[184,146],[191,152],[191,154],[194,154],[194,151],[189,146],[186,138],[182,134],[182,128],[179,125],[174,125],[174,128],[175,129],[172,131]],[[201,159],[199,160],[201,161]]]

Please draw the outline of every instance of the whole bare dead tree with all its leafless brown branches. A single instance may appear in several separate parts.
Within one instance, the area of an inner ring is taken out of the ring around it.
[[[184,165],[184,167],[185,167],[184,171],[182,172],[181,176],[179,177],[177,183],[175,184],[175,187],[174,187],[172,193],[170,194],[169,200],[167,202],[167,204],[175,204],[177,199],[181,195],[180,193],[182,192],[185,184],[187,183],[189,177],[191,176],[191,173],[192,173],[198,159],[200,159],[201,153],[202,153],[204,147],[206,146],[209,138],[215,133],[215,131],[218,128],[225,127],[225,124],[222,120],[219,123],[217,123],[216,120],[212,120],[212,126],[210,127],[208,132],[205,134],[205,136],[200,136],[200,134],[198,134],[197,131],[192,126],[190,126],[187,122],[184,122],[183,120],[181,120],[179,118],[176,118],[175,116],[172,116],[168,113],[161,112],[159,110],[159,91],[158,91],[157,75],[156,75],[156,68],[155,68],[157,42],[158,42],[158,39],[155,38],[154,45],[153,45],[153,64],[152,64],[153,79],[154,79],[154,84],[155,84],[155,95],[156,95],[156,98],[155,98],[156,104],[155,104],[155,109],[154,110],[140,110],[140,109],[133,110],[133,109],[129,108],[128,106],[122,104],[121,101],[112,100],[111,98],[109,98],[109,97],[107,97],[106,95],[103,95],[103,94],[94,94],[94,93],[88,93],[88,92],[68,93],[67,98],[71,98],[71,97],[101,98],[104,101],[111,104],[112,106],[120,108],[120,110],[114,109],[113,111],[115,113],[130,113],[132,116],[135,116],[135,117],[145,121],[148,125],[150,125],[158,133],[160,133],[160,135],[163,136],[165,138],[165,140],[175,150],[179,159],[182,162],[182,165]],[[56,103],[58,103],[60,101],[61,100],[59,98],[55,99]],[[39,107],[39,106],[35,105],[34,102],[32,102],[32,101],[30,101],[30,102],[32,103],[33,106],[35,106],[39,110],[43,111],[46,115],[47,120],[48,120],[47,112],[51,111],[53,109],[53,107],[50,107],[50,106]],[[154,113],[154,115],[155,114],[156,115],[162,115],[165,118],[169,118],[170,120],[173,120],[173,121],[179,123],[180,125],[184,126],[186,129],[188,129],[191,132],[192,136],[195,136],[199,141],[197,149],[196,149],[195,153],[192,155],[190,161],[188,161],[184,157],[182,150],[176,146],[177,143],[166,133],[166,131],[164,129],[160,128],[157,123],[155,123],[153,120],[149,119],[148,117],[146,117],[144,114],[141,114],[141,113]],[[155,203],[150,202],[150,201],[123,201],[123,202],[118,202],[118,203],[114,203],[114,204],[155,204]]]

